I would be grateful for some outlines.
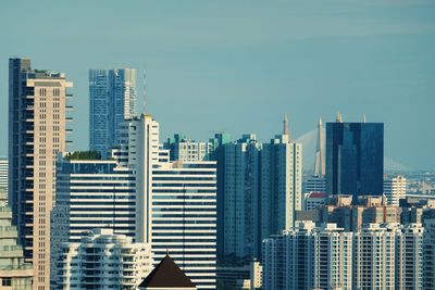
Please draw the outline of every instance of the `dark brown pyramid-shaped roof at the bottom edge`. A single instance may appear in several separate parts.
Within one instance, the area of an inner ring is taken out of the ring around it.
[[[195,288],[195,285],[169,254],[145,278],[139,287]]]

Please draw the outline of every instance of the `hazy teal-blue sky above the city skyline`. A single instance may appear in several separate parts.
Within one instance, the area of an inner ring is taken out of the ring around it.
[[[435,1],[1,1],[0,155],[11,56],[74,81],[71,150],[88,147],[88,70],[132,67],[162,140],[266,141],[285,113],[297,137],[340,111],[385,123],[389,159],[435,169]]]

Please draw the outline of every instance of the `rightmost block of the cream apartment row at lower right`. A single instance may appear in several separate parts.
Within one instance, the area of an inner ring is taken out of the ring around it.
[[[370,224],[355,234],[355,289],[423,289],[423,227]]]

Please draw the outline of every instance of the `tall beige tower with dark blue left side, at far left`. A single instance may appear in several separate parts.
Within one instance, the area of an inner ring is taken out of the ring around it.
[[[65,74],[30,68],[30,60],[9,61],[9,200],[18,240],[35,269],[34,289],[49,289],[50,212],[55,160],[66,149]]]

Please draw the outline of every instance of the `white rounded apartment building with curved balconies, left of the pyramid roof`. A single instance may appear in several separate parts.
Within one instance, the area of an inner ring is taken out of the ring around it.
[[[151,247],[112,229],[94,229],[79,242],[62,243],[55,265],[59,283],[52,289],[137,290],[152,270]]]

